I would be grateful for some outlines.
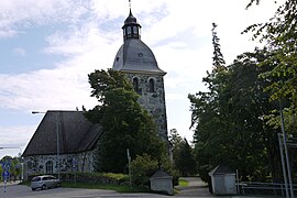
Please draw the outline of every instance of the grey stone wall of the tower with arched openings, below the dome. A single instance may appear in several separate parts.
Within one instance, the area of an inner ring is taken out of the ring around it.
[[[138,94],[141,95],[139,102],[150,112],[155,119],[158,127],[158,134],[163,140],[168,140],[167,136],[167,118],[165,105],[164,79],[161,75],[151,74],[127,74],[128,78],[133,81],[133,78],[139,79]],[[148,81],[154,80],[154,91],[150,90]]]

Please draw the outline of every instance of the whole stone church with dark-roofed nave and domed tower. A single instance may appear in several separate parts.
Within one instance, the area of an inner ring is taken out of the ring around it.
[[[139,102],[153,116],[157,132],[167,141],[164,76],[152,50],[141,41],[141,25],[131,8],[122,26],[123,44],[112,69],[121,70],[140,95]],[[24,178],[35,174],[94,172],[95,148],[103,133],[82,111],[48,110],[24,150]]]

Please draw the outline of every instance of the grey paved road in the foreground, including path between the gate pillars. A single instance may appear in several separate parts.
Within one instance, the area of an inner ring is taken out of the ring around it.
[[[198,177],[185,178],[189,182],[186,187],[177,187],[178,194],[174,197],[183,198],[210,198],[216,197],[209,194],[206,184]],[[3,184],[0,184],[0,198],[168,198],[170,196],[157,194],[119,194],[113,190],[82,189],[82,188],[54,188],[47,190],[32,191],[29,186],[9,184],[7,193],[3,191]],[[272,198],[273,196],[220,196],[222,198]],[[279,198],[279,197],[278,197]]]

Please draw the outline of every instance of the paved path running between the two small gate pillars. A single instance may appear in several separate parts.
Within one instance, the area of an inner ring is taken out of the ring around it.
[[[184,198],[209,198],[217,197],[209,193],[207,184],[204,183],[199,177],[184,177],[183,179],[187,180],[189,184],[186,187],[177,186],[178,194],[174,197],[184,197]],[[218,196],[222,198],[284,198],[282,196],[265,196],[265,195],[235,195],[235,196]]]

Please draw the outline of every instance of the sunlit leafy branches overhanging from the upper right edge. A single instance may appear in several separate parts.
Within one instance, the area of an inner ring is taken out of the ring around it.
[[[253,3],[251,1],[249,6]],[[257,0],[258,3],[260,0]],[[272,92],[272,100],[290,99],[292,109],[297,103],[297,1],[286,0],[266,23],[253,24],[245,32],[254,32],[253,38],[265,42],[270,56],[258,65],[270,65],[270,72],[262,75],[263,78],[278,77],[272,81],[267,90]]]

